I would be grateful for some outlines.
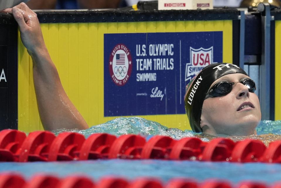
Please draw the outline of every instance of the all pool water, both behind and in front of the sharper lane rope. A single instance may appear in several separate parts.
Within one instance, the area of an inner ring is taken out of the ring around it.
[[[56,132],[63,132],[59,130]],[[68,130],[69,131],[69,130]],[[106,132],[114,135],[141,134],[149,138],[152,135],[167,135],[175,139],[193,137],[194,132],[178,129],[169,129],[159,123],[142,118],[117,118],[87,130],[71,130],[84,134],[85,137],[97,132]],[[257,127],[258,136],[270,134],[269,140],[279,138],[281,121],[262,121]],[[246,137],[236,137],[244,139]],[[202,138],[208,141],[208,138]],[[198,162],[198,161],[168,161],[168,160],[88,160],[71,162],[0,162],[0,172],[18,172],[26,179],[35,174],[45,173],[59,177],[70,174],[84,174],[97,181],[104,176],[117,176],[126,179],[137,177],[156,177],[164,182],[175,177],[195,178],[198,182],[206,179],[226,179],[236,184],[243,180],[254,180],[273,184],[281,181],[281,164],[265,163],[231,163],[231,162]]]

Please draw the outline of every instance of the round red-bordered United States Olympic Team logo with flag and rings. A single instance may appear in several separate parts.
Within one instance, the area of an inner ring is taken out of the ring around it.
[[[113,82],[123,86],[132,73],[132,56],[129,48],[124,44],[117,44],[110,53],[109,73]]]

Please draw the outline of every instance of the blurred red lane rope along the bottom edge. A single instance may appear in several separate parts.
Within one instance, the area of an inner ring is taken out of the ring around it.
[[[208,179],[198,183],[193,179],[171,179],[163,183],[158,179],[137,178],[127,180],[119,177],[104,177],[94,182],[89,177],[68,176],[58,178],[52,175],[36,175],[30,180],[14,173],[0,174],[0,188],[280,188],[281,182],[272,186],[255,181],[243,181],[232,185],[225,180]]]

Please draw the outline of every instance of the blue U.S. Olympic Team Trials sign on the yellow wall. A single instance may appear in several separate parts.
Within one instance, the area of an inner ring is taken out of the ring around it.
[[[184,114],[185,86],[222,62],[222,31],[104,34],[104,116]]]

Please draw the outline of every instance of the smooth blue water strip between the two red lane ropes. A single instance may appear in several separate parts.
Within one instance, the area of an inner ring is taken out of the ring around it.
[[[18,172],[26,179],[35,174],[52,174],[65,177],[70,174],[84,174],[97,181],[101,177],[115,176],[126,179],[156,177],[164,182],[175,177],[206,179],[227,179],[232,183],[255,180],[272,184],[280,181],[281,164],[229,163],[165,160],[89,160],[73,162],[26,162],[0,163],[0,172]]]

